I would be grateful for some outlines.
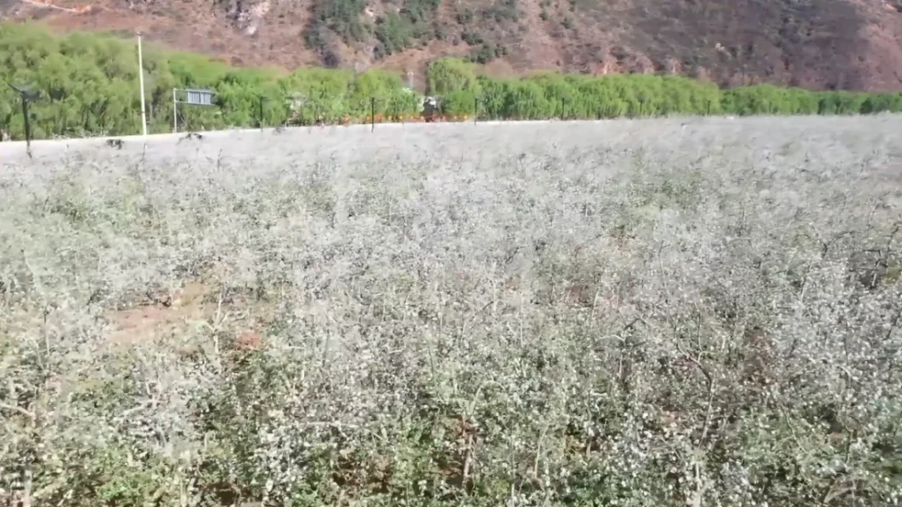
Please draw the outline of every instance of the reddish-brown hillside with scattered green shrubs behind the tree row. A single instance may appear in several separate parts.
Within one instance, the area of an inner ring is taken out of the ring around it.
[[[900,0],[3,0],[7,21],[129,33],[235,65],[411,70],[470,56],[533,69],[663,72],[721,85],[902,87]]]

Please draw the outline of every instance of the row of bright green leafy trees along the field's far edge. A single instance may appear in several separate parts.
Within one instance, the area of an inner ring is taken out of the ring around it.
[[[214,107],[179,105],[179,130],[410,118],[422,97],[399,75],[327,68],[232,68],[217,59],[146,44],[146,113],[151,132],[171,131],[173,88],[216,91]],[[29,86],[32,137],[127,135],[141,131],[134,41],[78,32],[60,37],[33,25],[0,24],[0,79]],[[442,113],[479,119],[601,119],[668,114],[860,114],[902,111],[902,94],[814,92],[759,85],[721,89],[687,77],[537,73],[480,75],[466,59],[438,59],[428,94]],[[23,139],[18,93],[0,89],[0,131]]]

